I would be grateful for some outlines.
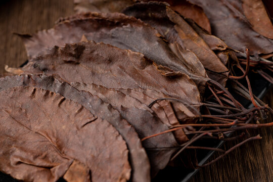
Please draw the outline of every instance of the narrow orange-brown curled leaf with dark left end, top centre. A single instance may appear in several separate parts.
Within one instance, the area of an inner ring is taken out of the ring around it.
[[[169,42],[177,41],[184,49],[193,51],[204,67],[216,73],[228,73],[228,69],[208,47],[194,29],[171,8],[159,2],[138,3],[123,11],[156,28]]]

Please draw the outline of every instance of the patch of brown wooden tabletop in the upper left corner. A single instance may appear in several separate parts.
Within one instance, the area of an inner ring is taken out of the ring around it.
[[[20,66],[27,60],[21,39],[13,33],[34,33],[48,29],[64,16],[73,14],[73,1],[6,0],[0,1],[0,72],[5,64]]]

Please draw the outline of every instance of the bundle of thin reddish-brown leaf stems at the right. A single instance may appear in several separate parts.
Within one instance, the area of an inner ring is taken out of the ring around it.
[[[241,55],[244,55],[244,54],[241,54]],[[214,97],[214,99],[218,102],[218,104],[214,102],[209,102],[209,101],[206,101],[204,103],[198,103],[198,104],[189,104],[185,101],[181,101],[175,98],[160,98],[155,100],[149,105],[149,107],[151,108],[157,101],[162,101],[162,100],[181,102],[185,104],[186,106],[188,106],[189,108],[193,109],[196,112],[196,116],[191,118],[185,118],[183,120],[180,120],[180,122],[186,121],[188,119],[197,118],[199,119],[199,123],[179,124],[179,125],[171,126],[169,130],[147,136],[146,138],[143,138],[142,141],[145,141],[147,139],[150,139],[152,137],[158,136],[163,133],[172,132],[172,131],[183,128],[185,129],[185,133],[187,134],[190,140],[180,145],[179,147],[177,147],[177,149],[179,150],[171,158],[171,160],[175,159],[181,152],[183,152],[186,149],[212,150],[212,151],[217,151],[222,153],[220,156],[218,156],[214,160],[204,165],[196,166],[196,168],[199,168],[199,167],[210,165],[218,161],[220,158],[234,151],[235,149],[245,144],[246,142],[261,139],[261,136],[259,134],[256,136],[250,136],[247,129],[256,129],[258,127],[273,126],[273,122],[259,123],[260,116],[263,119],[265,119],[267,118],[266,112],[270,112],[271,114],[273,114],[273,110],[270,107],[268,107],[268,105],[264,104],[259,98],[253,95],[250,81],[247,75],[250,70],[250,67],[255,67],[256,65],[259,65],[259,66],[263,65],[268,70],[272,71],[271,68],[273,68],[273,63],[264,61],[264,59],[258,60],[258,61],[250,60],[248,49],[246,49],[246,60],[243,60],[243,59],[239,59],[239,60],[240,62],[237,62],[233,66],[238,67],[243,72],[243,75],[242,76],[230,75],[229,78],[232,80],[233,89],[235,90],[235,92],[243,96],[245,99],[250,100],[254,106],[253,108],[250,108],[250,109],[244,108],[237,100],[234,99],[234,97],[230,94],[230,92],[226,88],[224,88],[221,84],[217,83],[216,81],[210,80],[212,84],[207,82],[207,86],[210,92],[212,93],[212,95],[208,97],[207,100]],[[240,64],[245,64],[246,70],[244,70]],[[264,77],[267,81],[269,81],[270,83],[273,83],[273,78],[271,76],[269,76],[262,70],[257,70],[257,72],[262,77]],[[243,78],[245,78],[247,81],[248,89],[245,88],[245,86],[242,83],[237,81]],[[212,85],[218,86],[222,90],[218,90],[217,88],[212,87]],[[219,96],[219,95],[222,95],[222,96]],[[226,104],[223,104],[223,103],[226,103]],[[213,112],[220,113],[220,115],[203,115],[194,106],[205,106]],[[260,113],[260,116],[259,116],[259,113]],[[250,123],[253,120],[256,123]],[[211,129],[211,127],[214,127],[214,129]],[[233,136],[230,138],[225,138],[226,134],[232,133],[236,130],[245,130],[245,132],[248,133],[248,137],[245,138],[246,134],[243,131],[240,135]],[[238,140],[243,138],[245,139],[242,142],[238,143],[237,145],[233,146],[232,148],[226,151],[219,148],[192,146],[192,144],[199,139],[216,139],[216,140],[223,140],[223,141],[233,141],[233,140]],[[168,150],[168,149],[169,148],[150,148],[149,150]]]

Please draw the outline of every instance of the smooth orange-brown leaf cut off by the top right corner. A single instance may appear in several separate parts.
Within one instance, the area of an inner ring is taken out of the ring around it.
[[[273,25],[261,0],[242,0],[244,14],[253,30],[273,39]]]

